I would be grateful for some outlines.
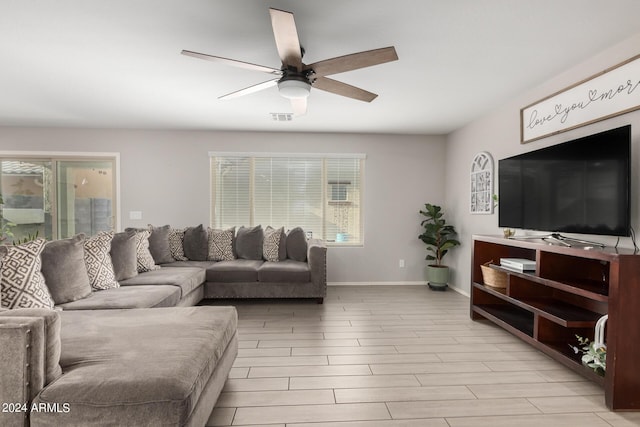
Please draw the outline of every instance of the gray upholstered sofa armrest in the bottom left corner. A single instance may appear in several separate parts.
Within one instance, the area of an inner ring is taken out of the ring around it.
[[[60,318],[44,309],[0,313],[0,425],[28,426],[30,404],[60,369]]]

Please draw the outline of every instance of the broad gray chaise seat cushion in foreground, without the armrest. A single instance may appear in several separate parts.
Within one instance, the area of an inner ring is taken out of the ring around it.
[[[72,410],[32,413],[32,420],[189,425],[236,328],[233,307],[64,312],[65,374],[35,403],[65,402]]]

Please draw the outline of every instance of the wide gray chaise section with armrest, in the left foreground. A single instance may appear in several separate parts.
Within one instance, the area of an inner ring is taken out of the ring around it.
[[[204,426],[236,329],[233,307],[0,312],[0,399],[21,404],[0,425]]]

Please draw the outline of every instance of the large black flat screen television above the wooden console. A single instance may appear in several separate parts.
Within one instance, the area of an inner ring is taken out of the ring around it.
[[[498,162],[499,225],[629,236],[631,126]]]

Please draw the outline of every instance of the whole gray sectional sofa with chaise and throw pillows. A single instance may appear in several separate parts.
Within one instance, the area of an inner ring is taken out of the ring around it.
[[[322,302],[326,246],[301,236],[165,226],[24,245],[40,260],[26,270],[42,274],[48,295],[11,289],[24,254],[0,248],[0,403],[10,405],[0,408],[0,425],[205,425],[237,355],[237,313],[195,305]],[[17,308],[28,299],[21,293],[50,306]]]

